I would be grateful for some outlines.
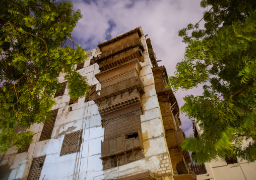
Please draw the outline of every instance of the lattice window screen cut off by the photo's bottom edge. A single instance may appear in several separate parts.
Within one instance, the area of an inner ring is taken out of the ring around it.
[[[46,155],[33,158],[32,165],[28,173],[28,180],[37,180],[40,178]]]

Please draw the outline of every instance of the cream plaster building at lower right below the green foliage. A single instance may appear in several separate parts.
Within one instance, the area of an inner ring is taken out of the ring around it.
[[[195,124],[198,133],[200,133],[200,127]],[[244,141],[246,145],[248,141]],[[256,162],[248,162],[237,158],[238,163],[227,164],[223,158],[218,158],[210,163],[205,163],[207,170],[206,174],[197,175],[197,180],[255,180],[256,179]]]

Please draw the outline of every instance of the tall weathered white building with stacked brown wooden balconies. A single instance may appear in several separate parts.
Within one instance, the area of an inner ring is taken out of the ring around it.
[[[63,74],[45,124],[33,124],[33,142],[1,157],[1,179],[196,179],[179,144],[179,107],[165,88],[142,28],[121,34],[87,54],[77,71],[90,92],[70,99]]]

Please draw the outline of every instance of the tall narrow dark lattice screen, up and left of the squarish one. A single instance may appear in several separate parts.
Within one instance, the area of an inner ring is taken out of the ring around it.
[[[58,109],[52,110],[51,113],[52,113],[51,120],[46,121],[45,124],[43,125],[43,130],[42,130],[39,141],[51,138],[51,133],[52,133],[52,129],[53,129],[54,124],[55,124]]]

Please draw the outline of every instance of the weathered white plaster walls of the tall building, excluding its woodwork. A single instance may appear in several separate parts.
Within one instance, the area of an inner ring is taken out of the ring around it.
[[[142,32],[142,29],[140,27]],[[144,49],[146,48],[145,37],[141,37]],[[90,85],[100,84],[94,77],[99,73],[98,65],[90,64],[93,56],[100,54],[100,50],[92,50],[84,68],[78,70],[82,76],[88,79]],[[34,132],[33,142],[28,152],[17,154],[17,148],[10,148],[3,156],[0,167],[8,167],[4,179],[26,179],[34,157],[46,155],[41,171],[40,179],[115,179],[150,170],[157,173],[172,173],[169,151],[164,137],[163,121],[156,95],[152,64],[149,60],[148,51],[144,51],[144,62],[141,63],[140,78],[143,81],[145,94],[142,96],[143,111],[141,115],[141,127],[143,133],[143,144],[145,158],[127,163],[110,169],[102,169],[101,141],[103,141],[104,128],[101,126],[101,117],[98,106],[94,101],[84,102],[85,97],[79,98],[78,103],[69,105],[70,97],[68,88],[65,94],[55,98],[58,108],[55,125],[48,140],[39,141],[43,124],[33,124],[30,131]],[[63,82],[63,75],[58,77]],[[72,107],[72,111],[70,111]],[[65,133],[83,129],[83,141],[81,151],[60,156],[60,149]],[[165,164],[165,165],[161,165]],[[168,175],[170,176],[170,175]],[[166,176],[165,179],[169,179]],[[171,179],[172,177],[170,177]]]

